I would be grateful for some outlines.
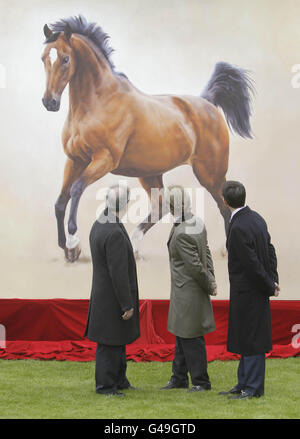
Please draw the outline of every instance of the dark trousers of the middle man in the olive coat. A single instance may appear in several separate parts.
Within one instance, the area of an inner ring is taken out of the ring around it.
[[[171,382],[178,386],[188,385],[188,372],[193,386],[211,388],[207,374],[207,358],[204,337],[175,339],[175,356],[172,364]]]

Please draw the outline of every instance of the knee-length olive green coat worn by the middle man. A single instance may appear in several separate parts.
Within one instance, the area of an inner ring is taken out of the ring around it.
[[[202,220],[192,216],[174,225],[168,249],[171,270],[168,331],[182,338],[196,338],[214,331],[210,301],[214,267]]]

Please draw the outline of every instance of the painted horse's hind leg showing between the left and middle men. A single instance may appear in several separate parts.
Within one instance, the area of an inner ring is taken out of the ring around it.
[[[135,253],[135,257],[138,259],[139,244],[143,239],[145,233],[151,229],[164,215],[169,211],[164,202],[164,186],[162,175],[153,177],[139,178],[141,185],[148,194],[151,202],[151,211],[149,215],[137,226],[131,233],[132,246]]]

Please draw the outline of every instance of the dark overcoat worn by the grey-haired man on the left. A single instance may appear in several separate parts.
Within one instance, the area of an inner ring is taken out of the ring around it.
[[[132,343],[140,336],[139,294],[133,248],[124,225],[103,222],[105,210],[92,226],[92,291],[84,336],[105,345]],[[134,308],[133,317],[122,314]]]

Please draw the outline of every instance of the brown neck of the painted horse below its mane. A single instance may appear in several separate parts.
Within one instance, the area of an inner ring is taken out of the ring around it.
[[[111,68],[99,54],[81,38],[74,42],[76,71],[70,80],[69,98],[71,114],[91,108],[95,96],[104,96],[116,86]]]

